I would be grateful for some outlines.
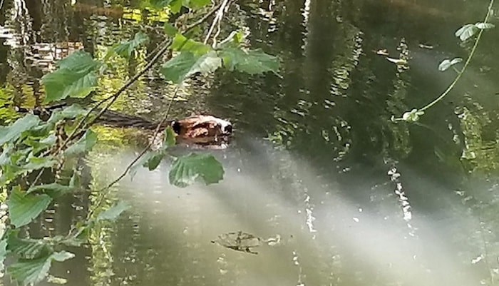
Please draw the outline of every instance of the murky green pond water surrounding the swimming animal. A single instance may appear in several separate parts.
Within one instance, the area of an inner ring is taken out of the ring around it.
[[[0,121],[14,116],[12,105],[40,103],[38,79],[52,64],[44,52],[56,44],[66,46],[61,53],[81,45],[103,56],[106,46],[149,31],[138,62],[117,62],[122,76],[106,76],[97,96],[119,88],[161,41],[158,23],[133,14],[135,2],[1,1],[0,103],[9,106]],[[279,76],[196,78],[173,108],[234,123],[229,148],[203,151],[220,159],[224,180],[175,188],[166,163],[124,178],[109,200],[132,208],[96,228],[53,275],[68,285],[498,283],[498,30],[483,34],[456,88],[419,123],[390,121],[453,81],[456,73],[438,63],[467,56],[473,43],[454,32],[482,21],[488,1],[235,6],[227,17],[247,27],[254,48],[282,59]],[[407,66],[375,53],[384,48],[407,56]],[[172,90],[152,71],[116,109],[159,118]],[[140,150],[120,131],[106,138],[85,162],[93,193],[60,202],[35,233],[66,233]],[[271,240],[252,248],[257,255],[212,243],[239,230]]]

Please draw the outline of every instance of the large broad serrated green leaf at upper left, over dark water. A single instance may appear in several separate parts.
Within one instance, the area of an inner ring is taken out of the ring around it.
[[[83,98],[97,88],[96,71],[101,66],[85,51],[75,51],[58,62],[58,69],[41,78],[45,85],[44,102],[67,97]]]

